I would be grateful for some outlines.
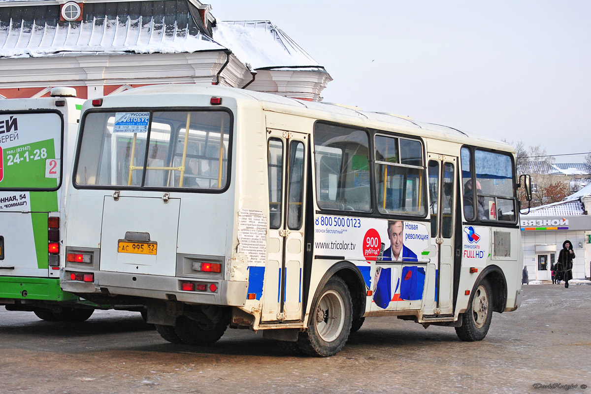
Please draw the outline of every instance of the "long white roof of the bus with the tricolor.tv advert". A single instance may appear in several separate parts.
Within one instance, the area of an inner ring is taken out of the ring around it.
[[[170,99],[167,97],[167,99],[163,100],[167,105],[154,105],[159,107],[179,106],[179,103],[183,103],[183,105],[186,106],[191,102],[190,97],[194,97],[195,95],[232,97],[236,100],[239,106],[248,105],[248,103],[251,102],[251,105],[258,105],[264,110],[274,112],[291,113],[293,115],[306,116],[336,123],[345,123],[365,128],[381,129],[384,131],[410,132],[413,133],[413,135],[426,138],[442,139],[460,144],[486,146],[488,148],[499,149],[502,151],[515,152],[515,149],[505,142],[476,133],[460,131],[459,129],[450,126],[420,122],[405,116],[370,112],[355,107],[291,99],[288,97],[273,95],[271,93],[254,92],[252,90],[236,89],[233,87],[199,86],[196,84],[151,85],[137,87],[103,98],[108,101],[109,106],[129,106],[129,100],[122,97],[128,95],[170,95]],[[117,96],[122,98],[121,101],[116,99]],[[173,99],[173,96],[178,96],[178,100]],[[141,99],[134,99],[133,102],[134,105],[137,106],[143,104],[141,103]],[[88,103],[86,106],[88,106]]]

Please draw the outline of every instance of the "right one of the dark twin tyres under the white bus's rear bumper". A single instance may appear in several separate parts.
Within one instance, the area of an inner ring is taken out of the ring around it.
[[[228,324],[230,315],[224,311],[212,319],[210,315],[204,313],[197,314],[198,320],[193,320],[187,316],[177,318],[177,325],[174,328],[177,336],[183,343],[188,345],[206,346],[217,342],[223,336]]]

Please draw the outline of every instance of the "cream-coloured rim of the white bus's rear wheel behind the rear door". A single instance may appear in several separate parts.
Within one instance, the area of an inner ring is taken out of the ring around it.
[[[336,291],[322,295],[316,308],[316,331],[324,341],[336,340],[345,325],[345,304]]]

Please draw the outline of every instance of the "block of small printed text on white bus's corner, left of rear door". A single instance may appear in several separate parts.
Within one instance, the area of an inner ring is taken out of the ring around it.
[[[238,253],[244,253],[248,257],[249,266],[265,266],[267,227],[267,216],[262,211],[238,211]]]

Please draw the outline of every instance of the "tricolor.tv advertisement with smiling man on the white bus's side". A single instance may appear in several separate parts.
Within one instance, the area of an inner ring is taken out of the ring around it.
[[[429,233],[423,223],[345,216],[314,220],[314,255],[340,256],[358,266],[371,310],[392,310],[395,301],[423,298]],[[372,264],[375,262],[375,264]]]

